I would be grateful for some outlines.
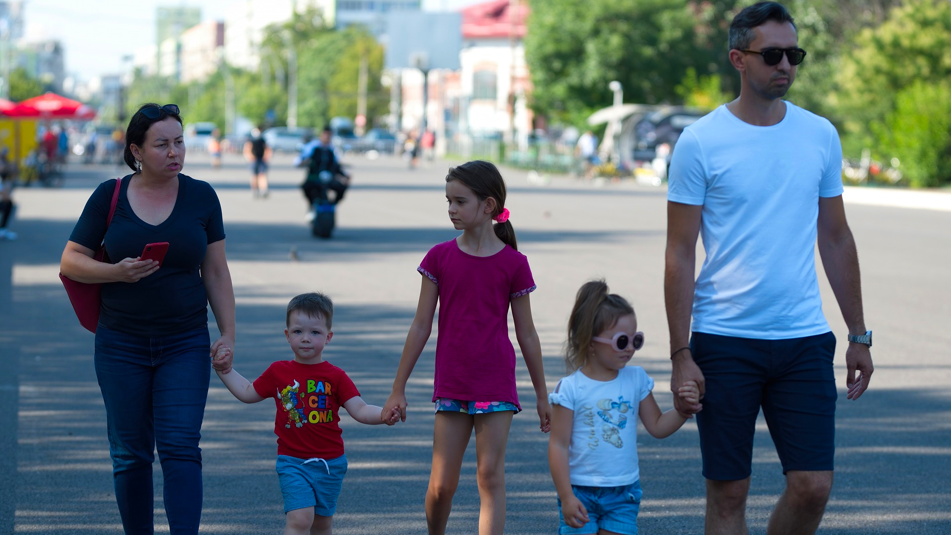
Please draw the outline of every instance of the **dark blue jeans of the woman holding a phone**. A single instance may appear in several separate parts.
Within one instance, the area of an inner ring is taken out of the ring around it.
[[[116,502],[127,535],[153,532],[152,463],[158,450],[172,535],[202,519],[204,404],[211,363],[207,327],[146,338],[99,326],[95,366],[106,402]]]

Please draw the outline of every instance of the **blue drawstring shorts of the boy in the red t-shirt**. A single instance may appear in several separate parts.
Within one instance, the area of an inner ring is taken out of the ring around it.
[[[314,507],[314,514],[334,516],[337,497],[347,473],[347,456],[336,459],[298,459],[278,455],[278,480],[284,497],[284,513]]]

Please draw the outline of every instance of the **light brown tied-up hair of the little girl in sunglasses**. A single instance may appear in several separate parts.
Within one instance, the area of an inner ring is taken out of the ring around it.
[[[634,307],[616,293],[608,293],[603,279],[589,281],[574,298],[572,315],[568,319],[568,343],[565,345],[565,363],[571,373],[588,362],[592,337],[617,323],[618,318],[634,313]]]

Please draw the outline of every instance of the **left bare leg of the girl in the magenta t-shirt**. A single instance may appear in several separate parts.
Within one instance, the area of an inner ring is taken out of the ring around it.
[[[464,412],[440,410],[433,428],[433,470],[426,491],[426,525],[430,535],[444,535],[453,495],[459,485],[462,455],[473,434],[473,417]]]

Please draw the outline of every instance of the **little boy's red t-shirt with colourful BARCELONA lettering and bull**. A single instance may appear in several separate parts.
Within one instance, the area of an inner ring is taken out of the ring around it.
[[[342,369],[327,361],[314,365],[278,361],[255,379],[254,389],[277,403],[278,455],[299,459],[343,455],[340,408],[359,391]]]

